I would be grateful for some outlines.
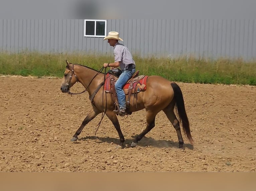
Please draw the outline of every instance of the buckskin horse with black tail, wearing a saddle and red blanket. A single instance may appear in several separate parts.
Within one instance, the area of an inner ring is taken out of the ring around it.
[[[119,145],[124,148],[125,138],[120,129],[117,118],[118,114],[113,111],[116,109],[114,100],[117,99],[114,91],[114,82],[117,77],[109,73],[106,75],[87,66],[69,63],[67,60],[66,63],[67,66],[60,86],[61,92],[70,93],[70,88],[76,82],[79,82],[85,87],[84,92],[88,92],[92,104],[92,110],[83,120],[71,141],[77,141],[78,135],[80,135],[85,125],[98,114],[104,113],[115,126],[120,138]],[[190,133],[189,121],[180,87],[175,82],[171,82],[160,76],[138,76],[138,72],[136,72],[137,76],[129,79],[124,86],[128,107],[127,113],[132,114],[132,112],[145,108],[147,125],[133,140],[131,147],[135,147],[138,141],[155,126],[155,117],[161,110],[166,114],[177,132],[179,148],[184,149],[180,124],[183,127],[185,137],[193,144],[194,141]],[[179,120],[174,111],[178,113]]]

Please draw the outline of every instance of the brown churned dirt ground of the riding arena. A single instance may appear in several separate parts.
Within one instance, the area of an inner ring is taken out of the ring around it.
[[[255,171],[256,87],[183,84],[180,86],[194,145],[183,131],[185,150],[163,112],[135,148],[145,128],[145,111],[118,116],[126,147],[101,114],[70,139],[92,109],[88,94],[60,92],[61,79],[0,77],[0,171]],[[75,85],[71,91],[83,91]]]

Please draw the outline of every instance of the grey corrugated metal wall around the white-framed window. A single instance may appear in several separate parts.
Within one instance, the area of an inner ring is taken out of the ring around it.
[[[141,57],[256,57],[255,19],[114,19],[107,20],[109,31],[118,31],[131,52]],[[0,19],[0,49],[113,52],[103,38],[84,37],[82,19]]]

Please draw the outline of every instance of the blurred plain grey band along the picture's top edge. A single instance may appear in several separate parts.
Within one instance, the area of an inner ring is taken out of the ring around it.
[[[1,0],[0,19],[256,19],[256,0]]]

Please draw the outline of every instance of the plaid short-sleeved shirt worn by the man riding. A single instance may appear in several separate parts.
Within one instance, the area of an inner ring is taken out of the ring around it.
[[[134,64],[135,62],[132,58],[131,53],[127,49],[126,46],[120,43],[116,43],[114,46],[114,56],[115,62],[121,62],[120,68],[121,70],[126,70],[129,64]]]

